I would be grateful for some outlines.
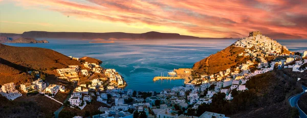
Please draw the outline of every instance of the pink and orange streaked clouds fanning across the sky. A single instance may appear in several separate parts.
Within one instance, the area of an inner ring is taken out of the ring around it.
[[[303,0],[15,1],[24,7],[48,9],[77,18],[146,26],[153,30],[172,27],[193,36],[237,38],[259,30],[272,38],[307,38],[307,1]]]

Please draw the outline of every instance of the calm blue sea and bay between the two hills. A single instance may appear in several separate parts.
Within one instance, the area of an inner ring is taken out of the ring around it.
[[[41,40],[41,39],[37,39]],[[47,44],[6,44],[48,48],[74,57],[90,56],[103,61],[104,68],[116,69],[126,80],[125,88],[136,91],[161,91],[183,85],[183,80],[153,82],[174,68],[192,68],[195,62],[231,45],[236,39],[138,40],[115,43],[89,43],[84,40],[47,39]],[[290,51],[307,50],[307,40],[277,40]]]

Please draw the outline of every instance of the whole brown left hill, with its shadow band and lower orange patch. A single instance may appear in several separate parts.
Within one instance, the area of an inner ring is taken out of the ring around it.
[[[0,44],[0,84],[29,81],[31,78],[27,71],[30,70],[49,70],[79,64],[81,63],[51,49]]]

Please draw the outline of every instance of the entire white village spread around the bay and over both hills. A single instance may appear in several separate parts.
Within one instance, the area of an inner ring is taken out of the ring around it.
[[[245,48],[236,55],[248,57],[249,60],[234,68],[218,73],[202,74],[193,78],[184,86],[165,88],[161,92],[124,91],[127,85],[124,78],[115,69],[103,69],[97,63],[82,62],[82,65],[71,65],[68,68],[55,69],[59,82],[74,83],[74,87],[65,101],[58,101],[57,93],[65,93],[68,88],[61,84],[49,84],[39,78],[31,83],[23,83],[20,90],[24,93],[39,93],[67,107],[85,109],[93,102],[101,103],[92,115],[96,117],[226,117],[225,114],[205,111],[196,116],[196,110],[202,104],[211,104],[217,93],[225,93],[225,100],[231,101],[234,93],[248,91],[245,83],[250,77],[266,73],[274,69],[292,68],[294,72],[307,69],[307,51],[292,53],[287,47],[280,45],[260,32],[251,32],[248,37],[239,39],[233,46]],[[71,57],[80,61],[79,58]],[[298,78],[299,79],[299,78]],[[0,94],[14,100],[22,94],[16,90],[14,83],[2,85]],[[74,116],[82,117],[82,116]]]

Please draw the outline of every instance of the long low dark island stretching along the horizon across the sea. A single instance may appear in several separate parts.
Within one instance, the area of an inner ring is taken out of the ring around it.
[[[5,37],[28,37],[28,38],[66,38],[66,39],[232,39],[232,38],[200,38],[193,36],[185,36],[176,33],[86,33],[86,32],[44,32],[44,31],[30,31],[23,34],[2,33]]]

